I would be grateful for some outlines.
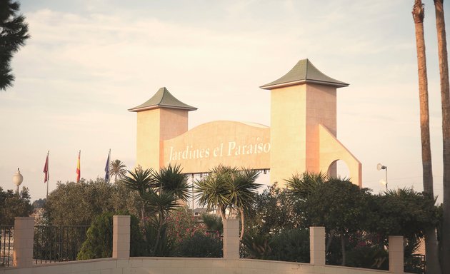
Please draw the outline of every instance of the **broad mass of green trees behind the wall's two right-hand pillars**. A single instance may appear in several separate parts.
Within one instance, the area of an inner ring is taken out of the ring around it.
[[[242,240],[250,258],[304,260],[292,255],[301,254],[301,247],[294,251],[297,247],[285,239],[320,225],[326,227],[327,264],[387,269],[388,235],[404,235],[405,270],[417,272],[417,239],[426,228],[439,228],[439,208],[412,189],[373,195],[346,179],[308,173],[293,176],[287,185],[274,184],[256,196]]]

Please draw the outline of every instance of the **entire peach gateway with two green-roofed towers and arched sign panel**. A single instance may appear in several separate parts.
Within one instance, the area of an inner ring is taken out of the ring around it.
[[[300,60],[281,78],[260,88],[271,91],[271,127],[213,121],[188,131],[189,111],[166,88],[129,111],[137,113],[136,165],[158,169],[180,164],[185,173],[214,166],[270,169],[271,182],[284,185],[295,173],[331,171],[345,161],[359,186],[361,163],[336,138],[336,88],[349,86]]]

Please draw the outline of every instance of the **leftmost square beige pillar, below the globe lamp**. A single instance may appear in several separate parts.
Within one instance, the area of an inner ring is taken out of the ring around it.
[[[34,217],[14,218],[13,265],[17,268],[33,266]]]

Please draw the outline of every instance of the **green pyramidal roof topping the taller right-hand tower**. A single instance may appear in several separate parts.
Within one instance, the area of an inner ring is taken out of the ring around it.
[[[319,71],[309,59],[300,60],[294,68],[292,68],[284,76],[271,83],[266,83],[264,86],[260,86],[263,89],[281,88],[283,86],[294,86],[301,83],[317,83],[321,85],[336,86],[341,88],[343,86],[349,86],[348,83],[338,81],[334,78],[326,76]]]

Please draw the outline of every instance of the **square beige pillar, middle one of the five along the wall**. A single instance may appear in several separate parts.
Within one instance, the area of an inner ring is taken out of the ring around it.
[[[224,220],[224,259],[239,259],[239,220]]]

